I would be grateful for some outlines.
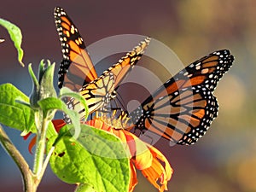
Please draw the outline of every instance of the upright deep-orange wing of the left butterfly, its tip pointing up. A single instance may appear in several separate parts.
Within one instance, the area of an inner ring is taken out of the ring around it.
[[[96,70],[86,51],[78,28],[64,9],[59,7],[55,8],[55,25],[59,33],[63,54],[58,86],[59,88],[66,86],[71,90],[78,91],[83,84],[88,84],[97,78]]]

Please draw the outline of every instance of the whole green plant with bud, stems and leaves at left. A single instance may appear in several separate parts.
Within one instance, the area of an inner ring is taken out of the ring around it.
[[[0,20],[0,24],[9,31],[22,63],[20,29],[6,20]],[[80,125],[79,113],[68,109],[61,97],[76,98],[84,104],[86,112],[84,98],[67,88],[61,89],[60,95],[56,96],[53,85],[54,67],[55,64],[50,64],[49,61],[41,61],[36,78],[29,65],[33,82],[29,97],[13,84],[0,85],[0,123],[20,130],[20,136],[33,133],[37,137],[34,165],[31,168],[0,125],[0,141],[20,168],[24,191],[37,191],[49,161],[53,172],[61,180],[80,183],[77,191],[127,191],[130,165],[129,159],[124,157],[124,146],[118,137],[107,131]],[[59,133],[52,124],[57,110],[67,113],[73,122],[62,127]]]

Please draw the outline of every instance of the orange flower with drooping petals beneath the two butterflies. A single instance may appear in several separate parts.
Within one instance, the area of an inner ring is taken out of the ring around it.
[[[55,127],[60,128],[63,121],[53,121]],[[113,125],[108,125],[101,118],[81,122],[86,125],[95,127],[113,133],[119,137],[127,149],[130,158],[131,180],[129,191],[132,192],[137,185],[136,169],[141,170],[143,176],[148,179],[160,192],[167,190],[167,183],[172,177],[172,167],[166,157],[160,151],[147,143],[143,143],[138,137],[124,129],[115,129]],[[163,166],[163,164],[165,166]]]

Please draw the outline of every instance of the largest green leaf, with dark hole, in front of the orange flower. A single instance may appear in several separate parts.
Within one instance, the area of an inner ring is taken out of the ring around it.
[[[97,192],[128,191],[130,164],[119,138],[88,125],[81,127],[78,140],[67,133],[56,143],[49,160],[53,172],[66,183],[87,183]],[[49,147],[54,142],[55,138],[49,139]]]

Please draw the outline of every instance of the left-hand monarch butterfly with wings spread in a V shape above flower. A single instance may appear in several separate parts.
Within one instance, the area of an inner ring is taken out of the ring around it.
[[[63,54],[58,86],[59,88],[66,86],[71,90],[79,91],[87,100],[89,113],[103,108],[115,97],[115,90],[119,83],[141,58],[150,41],[150,38],[145,38],[98,78],[77,27],[74,26],[64,9],[59,7],[55,8],[55,25]],[[66,98],[65,102],[69,108],[81,113],[81,119],[84,118],[84,108],[78,101]]]

